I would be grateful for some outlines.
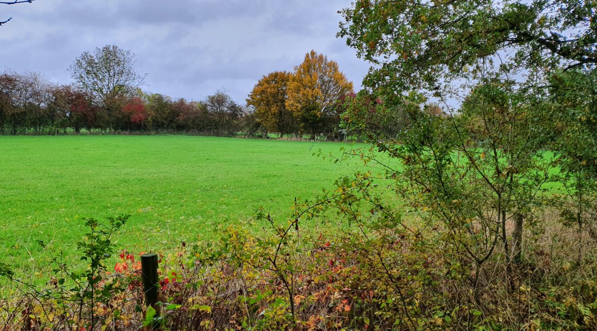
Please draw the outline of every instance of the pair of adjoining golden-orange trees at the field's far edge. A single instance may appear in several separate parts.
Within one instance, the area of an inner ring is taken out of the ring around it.
[[[335,61],[310,51],[293,73],[275,71],[257,83],[247,99],[256,120],[266,128],[286,133],[309,133],[338,138],[341,104],[353,93]]]

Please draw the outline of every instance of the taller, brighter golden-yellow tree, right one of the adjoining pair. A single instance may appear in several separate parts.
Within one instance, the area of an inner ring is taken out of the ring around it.
[[[337,117],[337,101],[352,93],[352,82],[338,69],[338,63],[310,51],[294,67],[288,82],[286,107],[303,130],[316,135],[331,118]]]

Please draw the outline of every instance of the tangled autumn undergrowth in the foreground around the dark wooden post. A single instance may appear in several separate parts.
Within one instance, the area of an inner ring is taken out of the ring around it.
[[[257,217],[270,223],[261,236],[239,225],[222,229],[217,242],[181,243],[164,252],[157,312],[144,304],[143,252],[116,252],[119,262],[103,266],[113,249],[110,236],[126,217],[88,220],[90,232],[78,247],[90,268],[69,271],[57,259],[44,291],[13,279],[13,298],[0,301],[0,325],[3,330],[597,327],[595,243],[587,233],[562,226],[550,208],[525,234],[524,263],[506,270],[498,247],[480,269],[455,254],[460,248],[442,229],[417,228],[414,224],[422,224],[416,219],[393,228],[357,222],[342,233],[301,229],[301,219],[337,208],[337,199],[349,191],[297,205],[296,218],[283,226],[259,211]]]

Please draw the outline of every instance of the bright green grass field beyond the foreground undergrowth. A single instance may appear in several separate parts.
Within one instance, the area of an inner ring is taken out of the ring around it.
[[[0,137],[0,261],[44,277],[51,254],[76,262],[84,217],[131,214],[116,245],[167,250],[331,188],[353,163],[341,143],[196,136]],[[42,241],[46,248],[42,248]],[[35,270],[35,271],[34,271]],[[47,275],[45,275],[47,276]]]

